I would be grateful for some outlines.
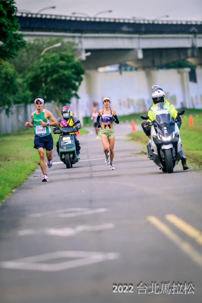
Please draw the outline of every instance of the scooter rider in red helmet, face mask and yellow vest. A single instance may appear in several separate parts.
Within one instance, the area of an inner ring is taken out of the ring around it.
[[[61,114],[62,117],[57,118],[57,127],[53,128],[53,130],[63,127],[72,127],[72,125],[78,120],[77,117],[71,116],[71,111],[69,106],[63,106],[61,109]],[[75,130],[78,132],[78,130],[81,128],[81,123],[74,125],[73,128],[75,128]],[[79,140],[77,140],[77,135],[75,134],[75,132],[71,132],[70,135],[74,136],[76,152],[78,157],[80,155],[80,149],[81,149]],[[59,139],[56,143],[56,147],[57,147],[57,154],[59,156]]]

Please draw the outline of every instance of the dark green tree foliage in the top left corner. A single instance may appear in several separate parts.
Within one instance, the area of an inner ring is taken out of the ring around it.
[[[0,0],[0,58],[4,60],[14,57],[26,44],[23,35],[17,33],[20,25],[14,4],[14,0]]]

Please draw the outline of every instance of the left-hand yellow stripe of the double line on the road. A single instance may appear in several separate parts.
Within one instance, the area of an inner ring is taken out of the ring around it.
[[[155,225],[164,233],[171,241],[173,241],[182,251],[184,251],[195,263],[202,268],[202,255],[195,250],[191,244],[184,242],[177,234],[175,234],[167,225],[158,220],[155,216],[148,216],[147,220]]]

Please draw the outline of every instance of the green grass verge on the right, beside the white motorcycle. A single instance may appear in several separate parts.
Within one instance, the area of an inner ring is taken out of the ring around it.
[[[194,115],[194,114],[192,114]],[[183,118],[180,128],[182,145],[187,156],[187,162],[193,163],[202,168],[202,117],[194,117],[194,125],[189,125],[189,117]],[[133,140],[147,145],[148,137],[143,131],[133,132],[129,135]]]

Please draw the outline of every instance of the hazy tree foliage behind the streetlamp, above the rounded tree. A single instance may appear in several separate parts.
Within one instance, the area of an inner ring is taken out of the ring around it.
[[[14,65],[19,74],[22,74],[40,60],[41,52],[45,48],[59,42],[61,42],[62,45],[49,49],[47,54],[55,54],[58,52],[74,54],[76,52],[76,45],[73,42],[66,42],[62,38],[36,38],[33,42],[27,42],[26,48],[21,49],[18,55],[9,60],[9,62]]]

